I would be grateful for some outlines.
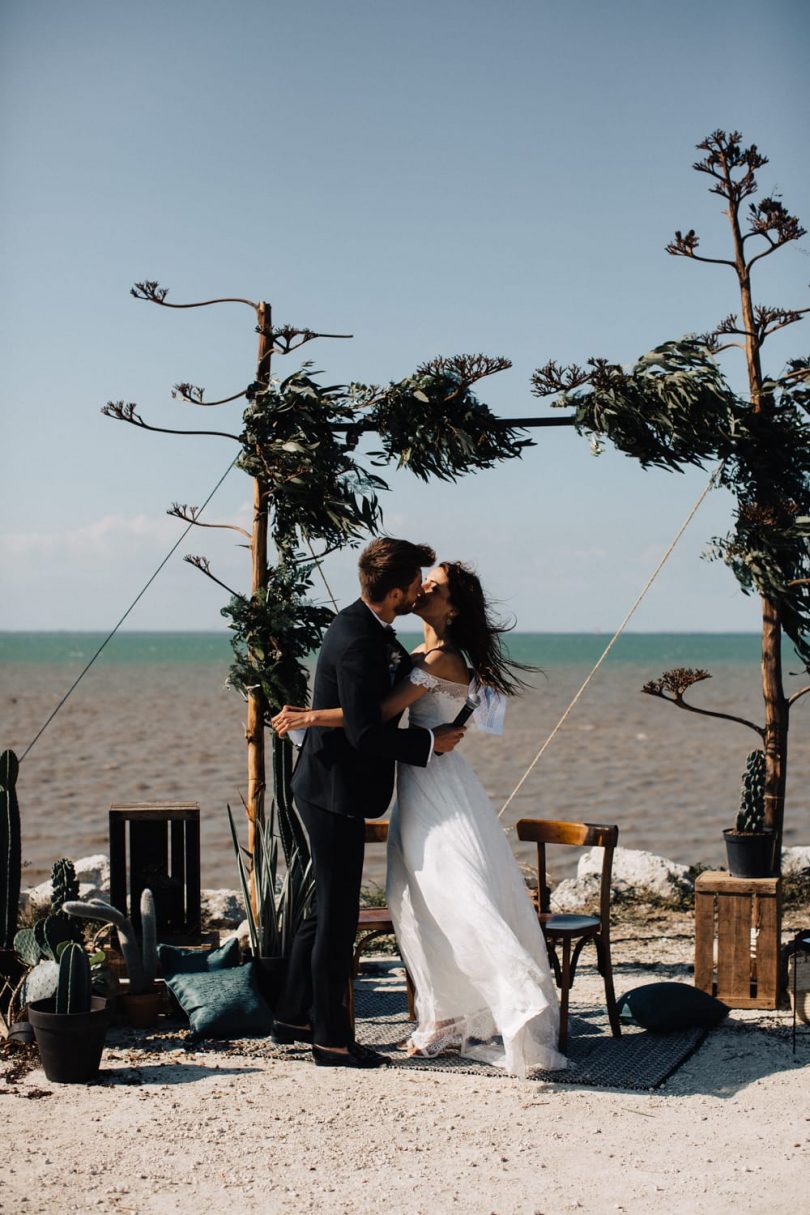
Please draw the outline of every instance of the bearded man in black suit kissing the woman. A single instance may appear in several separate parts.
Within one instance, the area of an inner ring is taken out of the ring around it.
[[[315,909],[290,951],[276,1007],[277,1042],[312,1042],[319,1067],[369,1068],[387,1059],[353,1041],[346,988],[363,874],[366,819],[385,814],[395,763],[424,768],[434,752],[452,751],[464,730],[438,725],[398,729],[383,722],[380,702],[407,677],[410,656],[391,622],[412,611],[426,544],[378,537],[359,558],[361,598],[339,612],[323,639],[315,672],[313,708],[344,711],[341,729],[311,728],[293,775],[293,792],[310,836]]]

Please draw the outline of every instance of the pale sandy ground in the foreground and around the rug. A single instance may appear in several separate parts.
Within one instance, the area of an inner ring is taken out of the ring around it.
[[[616,937],[619,993],[690,982],[689,916],[652,914]],[[574,991],[599,1000],[593,968]],[[788,1011],[732,1013],[650,1092],[115,1041],[107,1083],[0,1083],[2,1215],[806,1209],[810,1029],[793,1056]]]

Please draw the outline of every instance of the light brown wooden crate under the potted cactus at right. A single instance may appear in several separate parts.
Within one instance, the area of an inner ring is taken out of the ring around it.
[[[731,1008],[776,1008],[781,932],[781,877],[701,874],[695,883],[695,987]]]

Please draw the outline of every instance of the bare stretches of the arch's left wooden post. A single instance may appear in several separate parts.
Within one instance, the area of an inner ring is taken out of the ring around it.
[[[270,358],[273,349],[272,310],[262,300],[256,310],[259,327],[259,354],[256,362],[256,383],[264,388],[270,383]],[[268,490],[261,477],[253,482],[253,532],[250,538],[251,580],[250,593],[264,590],[267,586],[267,505]],[[256,823],[261,823],[265,813],[265,695],[261,688],[251,688],[248,693],[248,850],[253,855]],[[250,874],[250,902],[256,911],[256,892]]]

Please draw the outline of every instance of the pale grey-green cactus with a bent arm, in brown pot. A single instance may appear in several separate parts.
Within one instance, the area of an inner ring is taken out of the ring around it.
[[[126,990],[119,994],[118,1005],[130,1024],[153,1025],[160,1011],[160,993],[154,985],[158,949],[152,891],[146,889],[141,894],[140,945],[131,920],[103,899],[87,899],[86,903],[68,900],[62,910],[79,920],[95,920],[115,926],[129,976],[129,984]]]

